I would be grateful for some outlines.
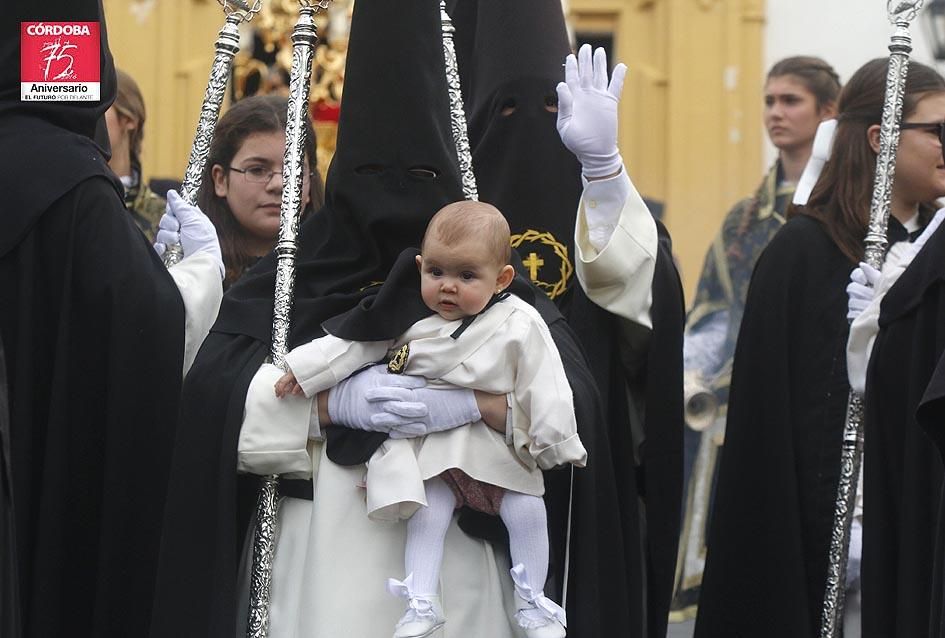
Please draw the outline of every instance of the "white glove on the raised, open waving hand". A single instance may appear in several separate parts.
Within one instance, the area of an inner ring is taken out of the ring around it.
[[[613,175],[623,165],[617,150],[617,105],[626,73],[626,65],[618,64],[608,85],[607,54],[598,48],[592,60],[589,44],[577,58],[571,54],[565,60],[565,81],[558,84],[558,134],[586,177]]]

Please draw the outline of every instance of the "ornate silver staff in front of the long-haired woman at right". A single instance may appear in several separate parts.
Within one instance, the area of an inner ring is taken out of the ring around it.
[[[879,157],[873,179],[873,200],[870,204],[870,225],[866,235],[866,262],[881,268],[886,252],[886,225],[896,173],[896,151],[899,148],[899,120],[902,118],[902,99],[909,71],[912,38],[909,24],[922,7],[923,0],[888,0],[889,21],[895,32],[889,43],[889,68],[886,73],[886,96],[880,127]],[[850,527],[856,487],[863,457],[863,404],[850,391],[847,419],[843,429],[843,448],[840,460],[840,483],[830,536],[830,555],[824,609],[821,617],[821,638],[839,638],[843,619],[843,599],[846,593],[847,554],[850,548]]]

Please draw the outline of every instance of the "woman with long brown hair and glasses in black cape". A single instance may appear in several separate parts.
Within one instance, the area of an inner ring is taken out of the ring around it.
[[[823,175],[806,205],[788,211],[787,223],[752,275],[735,348],[697,637],[819,635],[850,388],[845,288],[850,271],[863,259],[886,66],[885,59],[869,62],[844,87],[833,153]],[[929,67],[909,66],[903,120],[945,120],[945,80]],[[937,133],[921,128],[902,132],[895,177],[891,243],[908,240],[926,218],[923,203],[945,195]],[[882,393],[888,395],[885,389]],[[878,519],[888,518],[890,525],[904,519],[895,503],[884,512],[881,503],[870,502],[888,494],[870,484],[876,470],[869,456],[876,443],[870,441],[878,439],[867,432],[866,440],[864,565],[871,579],[873,551],[887,552],[892,564],[898,560],[906,571],[913,561],[903,558],[917,555],[913,552],[930,563],[934,519],[927,521],[924,538],[909,539],[911,547],[882,540],[871,545],[873,529],[883,523]],[[890,456],[887,463],[900,467],[902,459]],[[924,489],[935,490],[936,485],[930,479]],[[930,514],[914,510],[917,516]],[[854,538],[853,549],[856,545]],[[848,586],[857,567],[851,563]],[[918,570],[913,572],[917,577]],[[927,566],[925,573],[930,573]],[[886,602],[902,601],[891,595]],[[919,628],[927,627],[928,617],[921,616],[920,600],[909,602],[916,611],[915,631],[897,625],[867,635],[921,635],[925,629]],[[869,605],[882,606],[879,601],[864,603],[867,614],[874,611]]]

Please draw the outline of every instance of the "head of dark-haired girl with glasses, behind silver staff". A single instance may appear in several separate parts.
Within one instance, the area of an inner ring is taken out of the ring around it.
[[[287,111],[284,97],[253,96],[234,104],[217,122],[197,203],[220,237],[224,288],[268,254],[279,238]],[[308,119],[305,126],[303,219],[324,199],[315,132]]]

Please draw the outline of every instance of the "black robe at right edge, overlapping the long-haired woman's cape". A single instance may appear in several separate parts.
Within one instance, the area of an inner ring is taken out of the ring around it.
[[[893,224],[890,240],[894,241]],[[889,289],[865,393],[864,638],[922,636],[930,622],[942,462],[915,419],[945,351],[945,232]]]

